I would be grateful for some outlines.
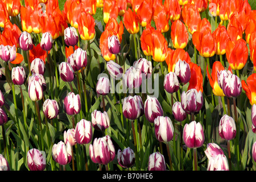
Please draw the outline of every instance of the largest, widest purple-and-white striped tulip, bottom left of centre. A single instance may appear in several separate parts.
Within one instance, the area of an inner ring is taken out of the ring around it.
[[[97,164],[108,164],[115,158],[115,148],[109,135],[95,138],[89,146],[89,154],[92,162]]]

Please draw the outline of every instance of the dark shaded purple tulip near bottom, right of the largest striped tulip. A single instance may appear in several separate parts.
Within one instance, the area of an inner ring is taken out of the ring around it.
[[[130,147],[123,149],[123,151],[119,149],[117,151],[117,161],[123,168],[132,167],[135,163],[134,151]]]

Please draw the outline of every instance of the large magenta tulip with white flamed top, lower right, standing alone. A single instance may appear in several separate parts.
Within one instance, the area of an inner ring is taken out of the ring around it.
[[[200,122],[192,121],[185,124],[183,141],[188,148],[199,148],[204,144],[204,131]]]

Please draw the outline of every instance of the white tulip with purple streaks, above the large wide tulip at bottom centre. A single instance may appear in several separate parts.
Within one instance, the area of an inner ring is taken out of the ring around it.
[[[109,115],[106,111],[94,110],[92,112],[92,125],[94,129],[104,131],[110,126]]]

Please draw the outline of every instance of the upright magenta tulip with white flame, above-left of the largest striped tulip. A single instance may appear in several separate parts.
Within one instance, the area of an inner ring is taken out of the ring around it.
[[[81,119],[76,124],[75,140],[78,144],[87,144],[92,140],[92,123],[85,119]]]

